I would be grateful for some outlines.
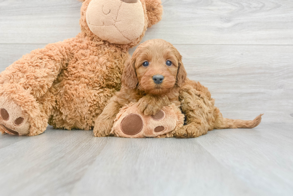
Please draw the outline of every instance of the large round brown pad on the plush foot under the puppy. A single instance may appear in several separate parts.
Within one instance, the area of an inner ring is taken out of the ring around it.
[[[123,133],[129,136],[134,136],[141,132],[144,127],[142,118],[137,114],[129,114],[121,123],[121,130]]]

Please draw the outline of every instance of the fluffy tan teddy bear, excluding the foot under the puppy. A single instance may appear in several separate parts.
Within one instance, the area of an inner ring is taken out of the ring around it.
[[[81,32],[14,62],[0,74],[0,131],[35,136],[49,124],[90,130],[120,90],[128,49],[161,20],[160,0],[85,0]]]

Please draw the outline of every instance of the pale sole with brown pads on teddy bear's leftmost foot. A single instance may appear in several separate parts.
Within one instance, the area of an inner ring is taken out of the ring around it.
[[[28,135],[28,114],[10,99],[0,98],[0,131],[11,135]]]

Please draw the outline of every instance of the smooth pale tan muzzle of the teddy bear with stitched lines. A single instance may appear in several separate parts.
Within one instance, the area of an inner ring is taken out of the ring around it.
[[[144,7],[138,0],[92,0],[86,10],[86,22],[100,39],[128,44],[144,31]]]

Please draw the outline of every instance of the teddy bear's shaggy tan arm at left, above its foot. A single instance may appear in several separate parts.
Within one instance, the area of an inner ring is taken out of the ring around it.
[[[33,50],[1,72],[0,86],[10,83],[29,90],[34,98],[41,97],[72,57],[73,50],[68,42]]]

